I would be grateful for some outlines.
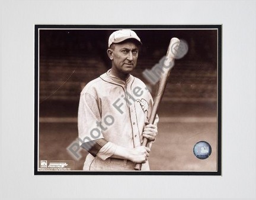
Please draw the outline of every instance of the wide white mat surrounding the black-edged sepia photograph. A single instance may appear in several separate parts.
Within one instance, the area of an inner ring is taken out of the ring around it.
[[[255,198],[255,1],[0,7],[2,198]],[[34,24],[223,24],[222,176],[34,176]]]

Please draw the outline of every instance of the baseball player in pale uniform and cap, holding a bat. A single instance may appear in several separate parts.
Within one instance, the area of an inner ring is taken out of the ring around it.
[[[156,117],[148,124],[153,107],[146,85],[130,73],[135,69],[142,45],[132,30],[113,32],[107,54],[111,69],[82,90],[78,109],[80,145],[89,153],[84,170],[133,171],[135,163],[149,170],[151,143],[158,133]],[[148,147],[141,146],[143,138]]]

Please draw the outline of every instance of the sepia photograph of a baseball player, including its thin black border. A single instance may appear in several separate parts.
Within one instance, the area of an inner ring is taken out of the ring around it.
[[[35,175],[222,175],[222,25],[35,25]]]

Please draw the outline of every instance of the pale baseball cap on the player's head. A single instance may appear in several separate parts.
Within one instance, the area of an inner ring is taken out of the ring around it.
[[[142,44],[142,42],[140,41],[140,38],[132,30],[123,29],[123,30],[119,30],[119,31],[114,31],[108,38],[108,47],[110,47],[110,45],[112,43],[119,43],[124,40],[132,39],[132,38],[139,41],[139,43]]]

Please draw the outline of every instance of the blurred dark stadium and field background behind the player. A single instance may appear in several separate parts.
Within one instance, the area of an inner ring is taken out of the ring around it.
[[[78,137],[77,112],[82,88],[105,73],[110,29],[40,29],[39,162],[74,160],[66,147]],[[152,146],[151,170],[216,171],[217,169],[217,30],[135,30],[142,49],[133,76],[143,76],[166,54],[169,40],[187,41],[188,53],[175,61],[159,108],[158,137]],[[197,159],[194,145],[212,146],[208,159]],[[75,161],[82,170],[87,152]]]

